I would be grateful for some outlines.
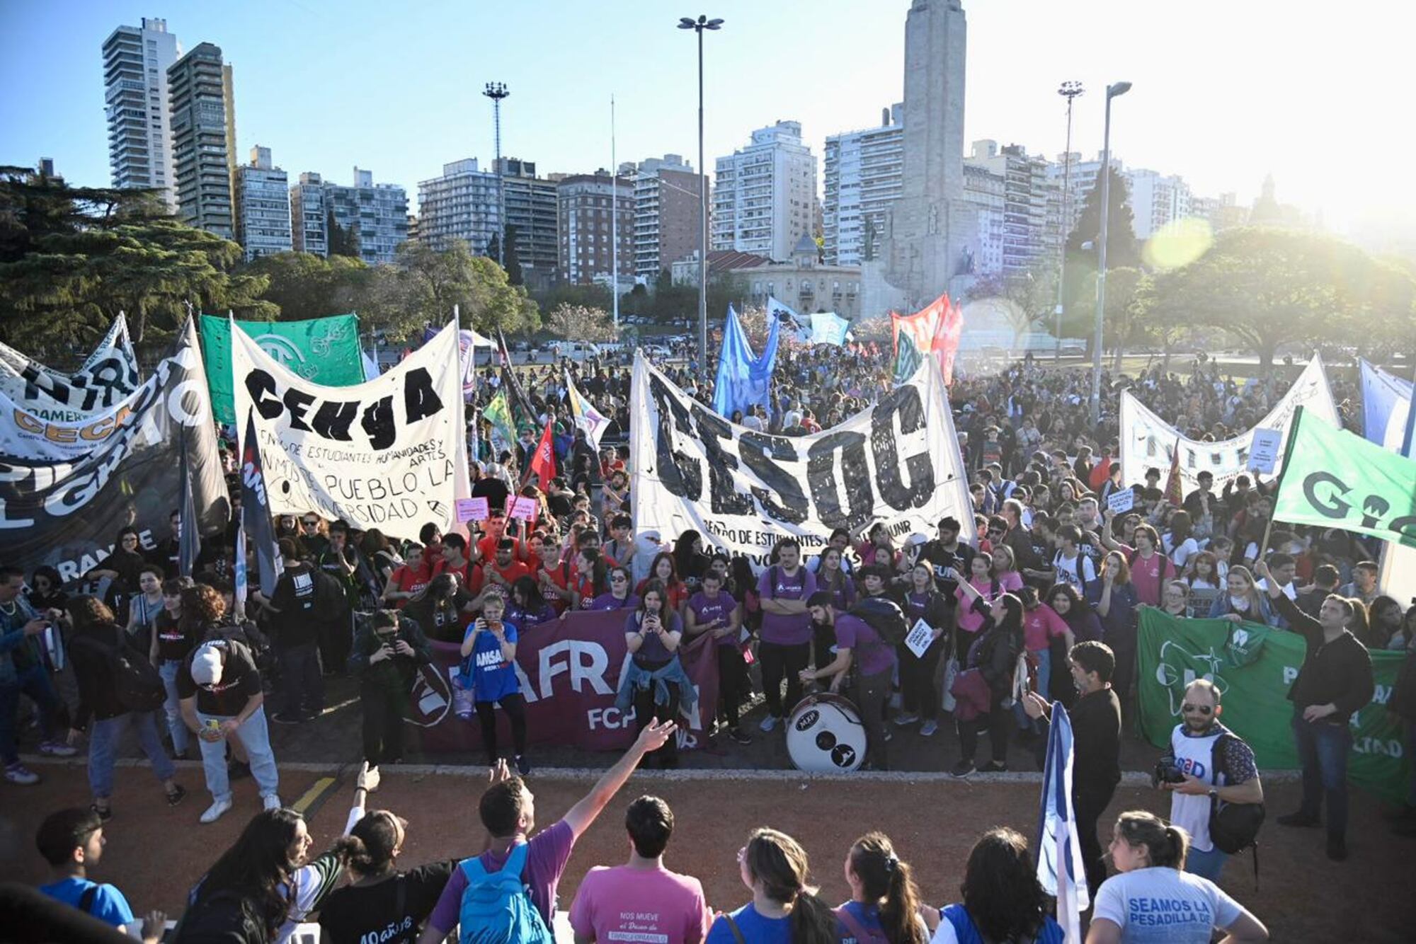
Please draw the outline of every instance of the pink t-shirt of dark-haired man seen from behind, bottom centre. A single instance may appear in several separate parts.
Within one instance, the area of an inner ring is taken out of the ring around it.
[[[664,866],[596,866],[575,893],[571,927],[596,941],[697,944],[708,934],[704,886]]]

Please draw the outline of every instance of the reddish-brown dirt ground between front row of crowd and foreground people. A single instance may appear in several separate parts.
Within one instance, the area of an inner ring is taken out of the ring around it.
[[[82,766],[37,764],[45,783],[34,788],[0,788],[0,876],[38,883],[44,863],[33,846],[44,814],[64,805],[88,804]],[[330,773],[334,773],[333,769]],[[282,771],[280,791],[295,804],[316,784],[313,771]],[[236,785],[236,808],[214,825],[198,825],[208,797],[197,766],[184,766],[187,801],[169,810],[149,771],[120,769],[113,797],[116,815],[106,827],[108,848],[95,877],[118,885],[135,909],[163,907],[176,913],[190,883],[215,859],[258,808],[255,785]],[[588,790],[590,780],[534,777],[537,817],[555,821]],[[1416,924],[1410,894],[1410,858],[1416,842],[1393,836],[1376,804],[1355,795],[1351,827],[1352,856],[1332,863],[1323,852],[1323,834],[1286,829],[1272,821],[1297,804],[1297,784],[1273,784],[1270,821],[1260,849],[1259,887],[1250,860],[1232,859],[1225,889],[1249,906],[1276,941],[1409,941]],[[396,811],[409,821],[402,862],[464,856],[481,848],[476,801],[477,778],[449,774],[388,773],[374,795],[374,807]],[[629,800],[643,793],[664,797],[677,819],[667,855],[671,869],[698,876],[716,909],[731,909],[748,897],[738,877],[735,853],[748,831],[770,825],[797,836],[811,855],[814,877],[826,897],[847,897],[841,863],[850,844],[868,829],[891,835],[901,856],[916,870],[926,902],[946,904],[959,897],[963,866],[974,838],[986,828],[1011,825],[1025,835],[1037,829],[1038,785],[976,777],[970,781],[867,780],[823,781],[735,780],[724,774],[637,774],[599,822],[581,839],[561,883],[561,907],[568,909],[581,877],[592,865],[619,863],[627,855],[622,828]],[[324,845],[344,824],[353,785],[343,780],[317,804],[312,832]],[[1148,808],[1164,814],[1164,797],[1143,787],[1123,787],[1110,814]],[[1405,862],[1405,865],[1403,865]]]

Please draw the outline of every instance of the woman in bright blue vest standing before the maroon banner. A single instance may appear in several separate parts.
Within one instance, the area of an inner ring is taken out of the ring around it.
[[[530,580],[530,577],[524,577]],[[520,586],[520,580],[517,585]],[[472,701],[481,723],[481,746],[487,750],[487,766],[497,767],[496,706],[511,719],[511,746],[515,750],[517,773],[531,773],[527,760],[527,699],[517,678],[517,627],[504,620],[506,604],[500,596],[489,596],[481,604],[481,616],[467,627],[462,641],[462,672],[459,681],[472,689]]]

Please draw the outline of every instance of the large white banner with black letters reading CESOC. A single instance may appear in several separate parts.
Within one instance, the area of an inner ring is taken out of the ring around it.
[[[974,539],[969,480],[935,358],[875,406],[813,436],[735,426],[692,401],[643,354],[630,392],[634,532],[698,531],[765,566],[780,538],[818,552],[835,528],[884,521],[896,538],[940,518]]]

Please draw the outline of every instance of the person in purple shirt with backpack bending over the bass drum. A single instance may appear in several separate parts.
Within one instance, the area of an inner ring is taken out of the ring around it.
[[[865,620],[837,613],[830,590],[817,590],[807,597],[807,609],[817,626],[835,631],[835,661],[817,669],[801,669],[801,684],[828,678],[833,692],[847,688],[865,726],[862,770],[889,770],[885,753],[885,703],[889,701],[889,682],[895,674],[895,647],[882,640]],[[854,678],[847,686],[847,672],[852,665]]]

